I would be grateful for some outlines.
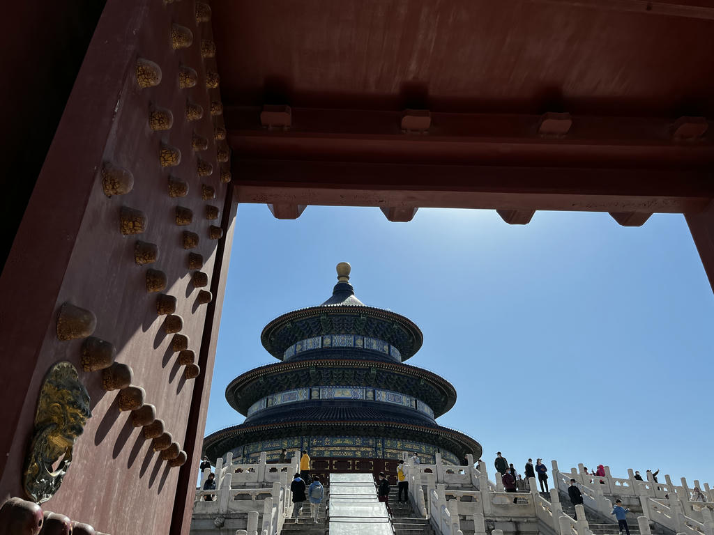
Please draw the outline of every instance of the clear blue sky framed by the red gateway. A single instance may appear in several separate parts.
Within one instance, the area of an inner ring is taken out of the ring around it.
[[[368,305],[416,322],[408,363],[458,392],[438,419],[521,473],[528,457],[661,469],[714,483],[714,296],[682,215],[620,227],[603,213],[308,207],[298,220],[240,205],[206,434],[238,424],[225,388],[277,362],[260,332],[331,295],[335,265]],[[663,479],[662,479],[663,480]]]

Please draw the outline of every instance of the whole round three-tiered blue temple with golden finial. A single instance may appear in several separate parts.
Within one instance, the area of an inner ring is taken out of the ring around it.
[[[435,418],[456,402],[456,390],[432,372],[403,364],[421,347],[408,318],[364,305],[337,265],[338,282],[322,305],[288,312],[266,325],[263,347],[276,364],[246,372],[226,388],[245,421],[210,434],[203,450],[215,461],[268,461],[306,449],[313,472],[393,472],[401,452],[452,464],[481,444]]]

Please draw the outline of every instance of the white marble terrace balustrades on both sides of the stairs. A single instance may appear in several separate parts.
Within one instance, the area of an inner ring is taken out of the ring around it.
[[[675,485],[668,475],[660,483],[638,481],[631,469],[628,477],[621,478],[613,477],[609,467],[605,467],[605,476],[591,476],[585,474],[582,464],[570,472],[560,472],[557,462],[553,461],[548,481],[557,488],[550,489],[546,499],[538,492],[535,479],[531,479],[529,485],[521,481],[517,494],[507,493],[501,474],[496,472],[496,481],[491,481],[486,464],[480,462],[478,467],[474,466],[471,456],[468,457],[470,464],[464,467],[444,464],[439,454],[436,464],[412,465],[406,452],[403,458],[408,467],[409,499],[413,510],[429,519],[434,531],[440,535],[463,535],[464,531],[486,534],[487,523],[493,535],[513,531],[593,535],[583,506],[576,506],[578,518],[575,519],[565,514],[560,505],[558,489],[567,494],[571,478],[577,481],[585,506],[599,516],[614,518],[610,512],[615,498],[622,499],[625,504],[638,504],[643,511],[637,519],[641,535],[650,535],[652,525],[674,534],[714,535],[714,489],[699,481],[689,486],[682,478],[680,484]],[[296,472],[297,459],[291,464],[266,464],[266,454],[263,453],[258,464],[238,464],[233,463],[228,454],[225,463],[223,459],[216,463],[216,490],[196,491],[194,518],[247,516],[247,530],[236,533],[277,535],[286,516],[292,513],[289,489]],[[201,474],[201,487],[208,473],[210,470],[206,469]],[[694,486],[701,489],[707,501],[692,501]],[[214,500],[204,501],[206,494],[212,494]],[[514,497],[517,497],[515,504]],[[517,528],[513,527],[516,525]]]

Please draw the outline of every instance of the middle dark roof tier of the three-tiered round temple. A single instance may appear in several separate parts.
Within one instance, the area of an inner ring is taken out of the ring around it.
[[[228,384],[228,404],[244,416],[258,400],[276,392],[316,386],[371,387],[401,392],[431,407],[435,417],[456,403],[456,389],[422,368],[380,360],[331,358],[281,362],[246,372]]]

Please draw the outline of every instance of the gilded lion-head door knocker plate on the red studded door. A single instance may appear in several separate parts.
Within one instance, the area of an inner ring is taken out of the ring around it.
[[[89,394],[69,362],[52,366],[40,390],[35,429],[27,453],[23,486],[38,504],[62,484],[77,437],[91,417]]]

